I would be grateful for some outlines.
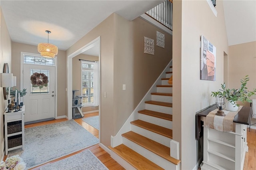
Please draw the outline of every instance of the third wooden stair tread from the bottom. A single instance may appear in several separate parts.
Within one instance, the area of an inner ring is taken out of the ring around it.
[[[132,125],[144,128],[146,130],[150,130],[151,132],[155,132],[157,134],[160,134],[162,136],[172,139],[172,129],[154,125],[152,123],[148,123],[148,122],[145,122],[142,120],[136,120],[136,121],[132,121],[130,123]]]

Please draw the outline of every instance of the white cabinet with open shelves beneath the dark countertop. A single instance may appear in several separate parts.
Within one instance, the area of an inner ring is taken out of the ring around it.
[[[233,123],[233,132],[204,127],[204,160],[201,170],[242,170],[248,152],[246,125]]]

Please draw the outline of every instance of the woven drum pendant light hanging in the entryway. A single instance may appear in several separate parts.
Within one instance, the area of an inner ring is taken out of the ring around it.
[[[49,34],[51,34],[51,32],[48,30],[45,32],[48,34],[48,43],[39,43],[37,50],[43,57],[53,58],[58,54],[58,47],[49,43]]]

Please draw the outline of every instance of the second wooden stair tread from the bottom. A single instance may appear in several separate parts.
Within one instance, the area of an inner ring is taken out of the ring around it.
[[[180,163],[180,160],[170,156],[170,148],[164,146],[163,144],[160,144],[154,140],[151,140],[150,138],[146,138],[145,136],[132,131],[126,132],[122,134],[122,136],[142,146],[143,148],[150,150],[154,154],[157,154],[158,156],[161,156],[162,158],[172,162],[173,164],[178,165]]]

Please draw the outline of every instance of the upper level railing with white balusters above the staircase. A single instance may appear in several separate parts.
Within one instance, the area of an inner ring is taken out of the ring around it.
[[[172,0],[165,0],[146,14],[172,30]]]

